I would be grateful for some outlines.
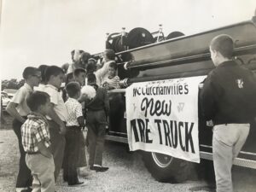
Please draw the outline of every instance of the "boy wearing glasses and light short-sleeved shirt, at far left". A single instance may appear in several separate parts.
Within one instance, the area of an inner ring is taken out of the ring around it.
[[[17,192],[30,191],[29,187],[32,186],[32,175],[26,166],[25,151],[21,143],[20,127],[25,122],[26,115],[30,112],[30,109],[26,105],[26,97],[32,93],[33,87],[38,86],[40,83],[41,73],[35,67],[26,67],[22,76],[25,79],[25,84],[15,93],[15,96],[6,108],[7,112],[14,118],[13,129],[15,135],[18,137],[20,149],[20,167],[16,181]]]

